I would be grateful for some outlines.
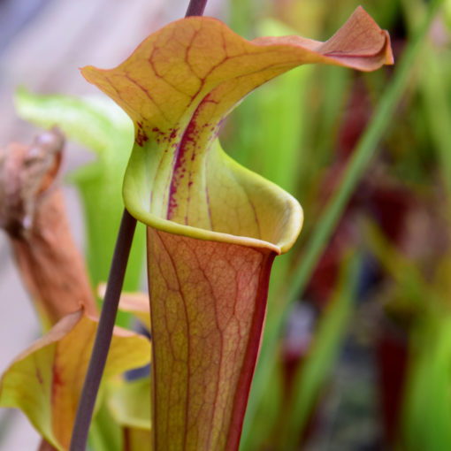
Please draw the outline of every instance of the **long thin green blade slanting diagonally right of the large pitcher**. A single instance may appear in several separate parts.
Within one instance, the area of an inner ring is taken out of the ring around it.
[[[443,1],[435,0],[429,4],[429,9],[424,17],[423,24],[417,29],[417,33],[404,51],[401,62],[397,64],[394,77],[378,103],[371,123],[367,126],[361,140],[355,148],[346,172],[340,181],[340,187],[335,191],[335,194],[325,206],[324,213],[317,221],[317,227],[312,234],[302,256],[302,260],[294,267],[294,271],[292,272],[293,276],[287,282],[288,293],[284,308],[277,317],[271,317],[267,320],[262,350],[249,396],[245,427],[241,439],[241,450],[252,447],[250,444],[249,427],[254,422],[259,405],[266,394],[268,388],[266,376],[271,374],[271,365],[277,362],[278,339],[282,327],[286,322],[288,312],[307,286],[311,274],[315,270],[317,262],[333,234],[335,226],[348,205],[351,195],[354,193],[357,183],[362,179],[363,174],[371,163],[371,158],[378,149],[378,143],[382,140],[384,134],[386,134],[389,126],[394,123],[393,118],[396,107],[409,84],[411,68],[416,63],[417,56],[423,47],[422,43],[431,27],[432,19],[435,17],[437,9],[443,4]]]

